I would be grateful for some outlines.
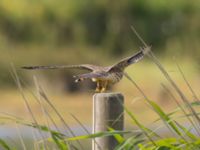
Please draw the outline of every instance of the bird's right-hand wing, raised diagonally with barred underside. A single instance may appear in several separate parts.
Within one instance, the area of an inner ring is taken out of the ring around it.
[[[122,59],[120,62],[118,62],[118,63],[114,64],[113,66],[111,66],[109,71],[113,70],[115,68],[120,69],[120,70],[124,70],[127,66],[140,61],[144,57],[144,55],[146,55],[149,51],[150,51],[149,47],[143,48],[139,52],[137,52],[136,54],[134,54],[134,55],[132,55],[130,57],[127,57],[125,59]]]

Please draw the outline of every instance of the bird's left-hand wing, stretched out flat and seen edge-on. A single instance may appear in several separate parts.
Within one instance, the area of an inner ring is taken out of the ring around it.
[[[35,69],[85,69],[93,71],[98,68],[98,66],[90,64],[81,64],[81,65],[54,65],[54,66],[24,66],[23,69],[35,70]]]

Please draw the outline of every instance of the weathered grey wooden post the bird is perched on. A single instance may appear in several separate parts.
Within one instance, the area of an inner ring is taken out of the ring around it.
[[[93,96],[93,133],[108,131],[108,127],[122,131],[124,97],[120,93],[98,93]],[[113,150],[118,145],[113,136],[92,141],[92,150]]]

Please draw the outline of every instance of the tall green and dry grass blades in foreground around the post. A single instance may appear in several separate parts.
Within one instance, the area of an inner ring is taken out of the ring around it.
[[[133,29],[134,30],[134,29]],[[135,31],[135,30],[134,30]],[[136,35],[138,35],[136,33]],[[138,35],[139,36],[139,35]],[[140,37],[139,37],[140,38]],[[141,39],[141,38],[140,38]],[[148,45],[146,45],[145,42],[143,42],[146,48],[149,48]],[[191,102],[181,91],[177,83],[172,79],[172,77],[169,75],[169,73],[166,71],[166,69],[162,66],[160,61],[157,59],[157,57],[154,55],[152,51],[148,54],[148,57],[152,60],[153,63],[159,68],[159,70],[162,72],[163,76],[166,78],[166,80],[171,84],[171,88],[173,91],[176,92],[176,95],[172,94],[171,90],[167,88],[164,84],[162,85],[164,90],[169,93],[169,95],[172,97],[172,99],[177,104],[177,109],[170,113],[166,113],[157,103],[152,101],[146,93],[142,90],[142,88],[130,77],[127,73],[124,75],[126,78],[132,83],[141,93],[143,96],[144,102],[148,105],[149,109],[154,111],[158,119],[157,121],[162,121],[162,124],[157,126],[156,128],[152,129],[145,125],[143,125],[139,120],[142,120],[143,118],[138,119],[137,116],[126,106],[124,106],[124,110],[126,115],[130,118],[130,121],[132,122],[133,126],[137,126],[137,130],[128,130],[128,131],[115,131],[113,129],[110,129],[106,132],[100,132],[91,134],[84,125],[78,120],[77,116],[74,116],[72,114],[72,117],[75,121],[79,124],[79,126],[86,132],[85,135],[82,136],[76,136],[74,131],[70,128],[70,126],[65,122],[64,117],[59,113],[59,111],[56,109],[55,104],[52,104],[50,99],[45,94],[44,90],[42,89],[41,85],[37,82],[37,79],[35,80],[35,85],[37,87],[37,94],[33,94],[35,97],[35,100],[37,101],[38,105],[40,106],[43,117],[46,120],[46,124],[40,125],[37,121],[37,118],[35,117],[31,105],[29,104],[28,99],[26,98],[26,95],[24,94],[23,88],[27,88],[26,83],[20,80],[16,70],[14,67],[12,67],[12,75],[13,78],[18,86],[18,89],[23,97],[23,101],[25,104],[25,108],[27,109],[27,113],[29,114],[30,120],[24,120],[23,118],[19,118],[10,114],[1,114],[1,119],[4,119],[5,121],[12,121],[19,125],[25,125],[37,130],[33,131],[33,137],[39,138],[35,139],[33,141],[34,149],[60,149],[60,150],[74,150],[74,149],[85,149],[83,143],[83,140],[86,139],[94,139],[96,137],[105,137],[105,136],[114,136],[116,140],[118,141],[119,145],[116,147],[116,150],[134,150],[134,149],[141,149],[141,150],[153,150],[153,149],[159,149],[159,150],[179,150],[179,149],[187,149],[187,150],[195,150],[200,149],[200,117],[199,112],[197,112],[195,107],[198,107],[200,105],[199,99],[197,97],[197,94],[192,89],[191,85],[189,84],[189,81],[187,81],[182,69],[179,65],[177,65],[180,74],[182,75],[184,81],[188,85],[189,91],[193,94],[194,101]],[[177,98],[179,100],[177,100]],[[182,103],[180,103],[180,100]],[[50,108],[47,109],[47,108]],[[61,120],[63,126],[65,127],[66,132],[61,132],[58,125],[54,121],[54,118],[52,118],[49,115],[49,111],[54,111],[56,116]],[[181,116],[175,116],[177,113],[182,113]],[[184,117],[185,122],[189,127],[186,127],[182,125],[182,123],[179,121],[179,118]],[[153,122],[154,123],[154,122]],[[54,128],[52,128],[52,125]],[[159,133],[157,130],[159,128],[167,128],[170,136],[169,137],[162,137],[161,133]],[[38,133],[36,133],[38,132]],[[48,133],[48,134],[44,134]],[[21,145],[23,146],[23,149],[27,149],[26,145],[24,144],[23,137],[20,136],[21,139]],[[0,146],[4,149],[13,149],[6,140],[0,139]]]

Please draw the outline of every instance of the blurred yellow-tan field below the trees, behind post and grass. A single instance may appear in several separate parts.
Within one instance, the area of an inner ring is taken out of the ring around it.
[[[199,91],[199,78],[198,78],[198,68],[190,63],[191,61],[186,60],[179,62],[182,66],[187,79],[190,81],[193,89],[195,91]],[[174,64],[175,62],[171,60],[163,61],[164,66],[166,66],[167,70],[172,75],[173,79],[179,84],[182,91],[186,92],[188,96],[192,99],[192,96],[188,91],[188,87],[185,84],[184,80],[181,77],[178,68]],[[18,69],[20,74],[27,73],[21,69]],[[55,71],[56,72],[56,71]],[[38,73],[38,71],[37,71]],[[169,86],[169,83],[164,79],[160,71],[146,59],[143,62],[138,64],[132,65],[127,69],[127,73],[140,85],[140,87],[144,90],[144,92],[155,102],[158,102],[162,108],[166,109],[167,111],[172,110],[176,106],[174,106],[174,102],[170,100],[170,96],[167,92],[162,88],[161,83],[166,84]],[[34,72],[28,72],[28,74],[34,75]],[[148,75],[148,76],[147,76]],[[11,75],[10,75],[11,76]],[[69,115],[68,113],[72,113],[77,116],[80,120],[84,118],[82,121],[83,123],[91,123],[91,111],[92,111],[92,95],[94,93],[94,89],[89,89],[88,91],[78,92],[78,93],[69,93],[68,91],[63,91],[62,89],[57,89],[57,87],[53,86],[51,83],[48,83],[52,80],[56,79],[49,79],[48,73],[43,72],[43,77],[47,77],[47,80],[43,81],[42,79],[38,79],[45,83],[44,89],[51,99],[51,101],[55,104],[56,108],[61,111],[61,113]],[[55,77],[56,78],[56,77]],[[12,81],[14,82],[14,81]],[[32,82],[31,82],[32,83]],[[77,84],[77,83],[74,83]],[[80,83],[84,84],[84,83]],[[45,86],[46,85],[46,86]],[[59,86],[58,86],[59,87]],[[169,86],[170,88],[170,86]],[[34,92],[34,84],[28,88],[30,91]],[[34,98],[31,97],[30,91],[28,89],[24,89],[26,95],[30,99],[30,102],[33,103],[32,107],[36,112],[36,116],[40,115],[40,108],[34,104]],[[140,92],[126,79],[125,77],[123,80],[114,86],[113,92],[121,92],[124,94],[126,99],[126,104],[128,107],[133,110],[133,112],[138,113],[139,118],[143,118],[146,115],[151,116],[152,114],[149,113],[150,109],[145,108],[145,103]],[[17,116],[23,116],[26,109],[23,105],[23,99],[20,95],[20,92],[17,88],[11,89],[4,89],[1,90],[1,111],[2,112],[10,112],[13,114],[17,114]],[[12,105],[10,105],[10,103]],[[77,111],[78,110],[78,111]],[[151,112],[151,111],[150,111]],[[153,112],[152,112],[153,113]],[[26,117],[26,116],[24,116]],[[87,118],[87,119],[86,119]],[[153,117],[154,118],[154,117]],[[152,117],[147,117],[144,120],[144,123],[148,123],[153,121]],[[73,119],[70,117],[66,117],[67,122],[72,122]],[[155,119],[155,118],[154,118]]]

